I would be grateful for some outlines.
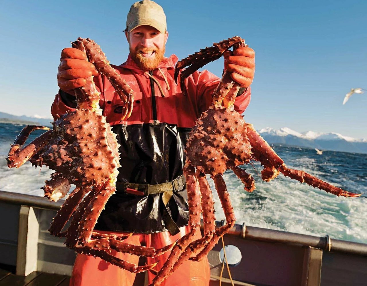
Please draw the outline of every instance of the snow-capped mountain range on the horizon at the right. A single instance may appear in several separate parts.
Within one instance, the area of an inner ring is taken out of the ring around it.
[[[290,128],[263,128],[258,131],[270,144],[285,144],[321,150],[334,150],[355,153],[367,153],[367,140],[355,139],[339,133],[320,133],[307,131],[299,133]]]

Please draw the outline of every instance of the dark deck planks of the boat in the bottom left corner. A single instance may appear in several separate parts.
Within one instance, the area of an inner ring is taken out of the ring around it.
[[[0,265],[0,286],[69,286],[70,276],[33,271],[28,276],[18,276]]]

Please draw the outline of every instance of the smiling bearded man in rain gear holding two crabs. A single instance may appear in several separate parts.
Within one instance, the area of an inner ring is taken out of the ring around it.
[[[190,231],[187,193],[182,176],[183,149],[188,133],[200,114],[211,104],[219,78],[208,71],[195,72],[185,81],[187,96],[174,82],[177,56],[164,57],[168,39],[166,16],[153,1],[134,3],[127,15],[126,38],[130,54],[125,63],[113,66],[134,90],[131,117],[121,121],[122,102],[115,90],[83,52],[65,48],[58,69],[59,93],[51,112],[63,114],[76,106],[73,89],[82,87],[93,75],[101,92],[100,106],[113,132],[119,136],[120,164],[117,191],[101,213],[96,230],[105,233],[134,232],[127,243],[160,248],[175,242]],[[254,51],[239,48],[225,54],[224,68],[241,84],[235,109],[243,112],[250,102],[254,77]],[[98,77],[97,77],[98,76]],[[132,185],[133,183],[134,185]],[[142,195],[149,184],[149,195]],[[134,186],[134,187],[132,187]],[[159,186],[160,191],[156,190]],[[138,257],[114,253],[138,264]],[[158,262],[159,270],[169,252],[147,263]],[[186,261],[162,285],[208,285],[208,261]],[[154,275],[148,273],[149,282]],[[70,285],[132,285],[135,274],[92,256],[78,254]]]

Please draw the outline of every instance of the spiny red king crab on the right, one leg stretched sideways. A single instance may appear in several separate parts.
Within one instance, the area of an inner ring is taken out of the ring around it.
[[[246,44],[240,37],[229,38],[177,62],[175,67],[176,82],[181,69],[188,66],[181,71],[182,91],[184,91],[186,77],[212,60],[220,58],[232,46],[235,49],[245,47]],[[219,238],[235,224],[235,214],[223,180],[225,170],[231,169],[242,181],[248,192],[255,189],[254,178],[239,166],[250,163],[250,160],[255,160],[260,161],[264,166],[261,172],[264,181],[274,179],[281,172],[284,176],[337,196],[360,196],[360,194],[334,187],[304,171],[287,168],[284,161],[255,131],[252,124],[247,124],[243,117],[234,110],[233,103],[239,89],[240,86],[230,78],[228,72],[225,72],[213,93],[213,104],[197,120],[190,133],[185,149],[186,163],[183,173],[186,178],[189,198],[191,232],[177,241],[152,285],[159,285],[183,261],[187,259],[199,261],[205,257],[217,244]],[[214,201],[206,174],[209,174],[214,180],[226,217],[226,224],[219,228],[215,228]],[[193,241],[194,235],[200,231],[201,214],[204,221],[204,236]]]

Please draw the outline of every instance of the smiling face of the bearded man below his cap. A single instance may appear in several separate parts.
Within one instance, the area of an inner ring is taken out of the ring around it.
[[[143,70],[154,70],[163,59],[168,32],[162,34],[148,25],[126,32],[132,59]]]

